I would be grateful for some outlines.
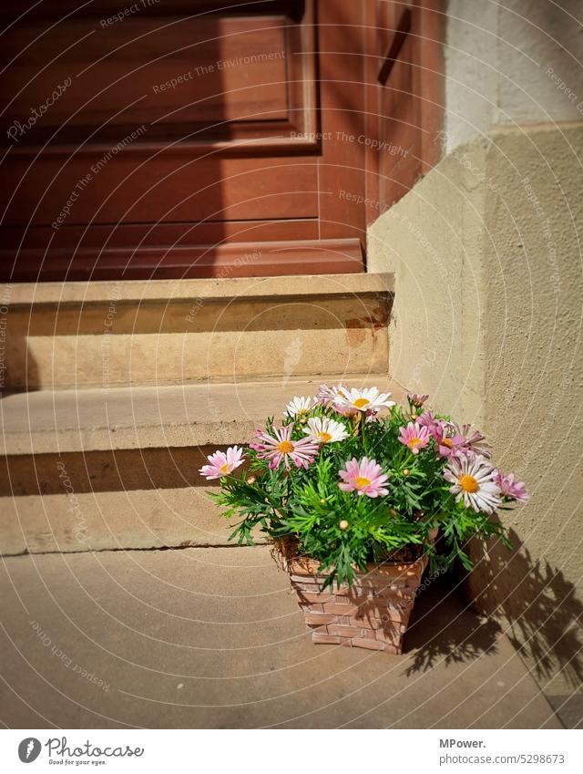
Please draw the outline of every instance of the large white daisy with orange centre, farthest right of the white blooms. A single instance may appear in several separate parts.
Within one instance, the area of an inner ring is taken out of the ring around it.
[[[445,480],[453,486],[455,501],[463,499],[466,508],[494,513],[500,503],[500,488],[495,482],[496,469],[481,454],[452,456],[444,470]]]

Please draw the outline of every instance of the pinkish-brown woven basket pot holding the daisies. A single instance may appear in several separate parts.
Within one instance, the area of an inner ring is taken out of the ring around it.
[[[427,557],[413,562],[369,564],[353,586],[322,589],[326,573],[308,557],[290,558],[276,545],[282,567],[290,573],[312,642],[364,647],[394,655],[403,652],[403,635]]]

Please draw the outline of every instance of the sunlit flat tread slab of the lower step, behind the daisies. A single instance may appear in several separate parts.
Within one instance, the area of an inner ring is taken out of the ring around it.
[[[400,400],[384,374],[344,373],[236,384],[39,390],[0,401],[0,453],[64,454],[107,449],[168,449],[246,443],[294,395],[314,395],[322,381],[374,385]]]

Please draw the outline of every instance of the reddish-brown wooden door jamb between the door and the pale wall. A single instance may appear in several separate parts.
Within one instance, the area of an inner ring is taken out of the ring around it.
[[[365,3],[365,131],[376,139],[366,160],[370,223],[441,158],[445,0]]]

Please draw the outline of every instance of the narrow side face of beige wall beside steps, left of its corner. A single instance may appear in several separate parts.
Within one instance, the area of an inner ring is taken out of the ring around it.
[[[369,271],[396,273],[394,377],[475,420],[484,409],[485,175],[483,143],[455,152],[373,224],[368,250]]]

